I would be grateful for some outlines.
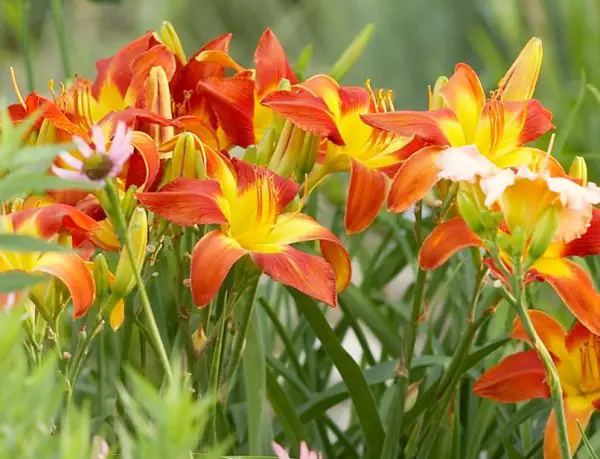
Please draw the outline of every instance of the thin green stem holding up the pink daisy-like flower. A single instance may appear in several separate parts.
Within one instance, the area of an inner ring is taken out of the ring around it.
[[[123,214],[123,209],[121,208],[121,202],[119,200],[117,189],[110,180],[106,181],[105,188],[106,194],[114,212],[117,234],[119,235],[121,243],[125,246],[125,250],[127,250],[127,254],[129,256],[129,259],[131,260],[133,274],[135,276],[135,282],[137,284],[138,293],[140,295],[140,301],[142,303],[142,308],[146,316],[146,320],[148,322],[148,334],[151,340],[152,347],[158,353],[158,358],[163,367],[163,371],[167,376],[168,382],[172,383],[173,372],[171,370],[171,365],[169,364],[169,357],[167,356],[167,351],[160,336],[158,325],[156,324],[154,312],[152,311],[152,305],[150,304],[150,298],[148,298],[148,292],[146,292],[144,280],[142,279],[142,275],[140,273],[140,267],[137,266],[137,263],[135,262],[136,255],[133,249],[133,244],[131,242],[131,237],[129,236],[129,232],[127,231],[127,222],[125,221],[125,215]]]

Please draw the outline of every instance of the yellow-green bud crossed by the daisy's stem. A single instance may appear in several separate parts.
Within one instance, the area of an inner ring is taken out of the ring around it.
[[[129,255],[125,247],[121,250],[121,257],[117,263],[115,271],[115,282],[112,286],[113,294],[119,298],[124,298],[133,290],[135,286],[135,271],[141,269],[146,257],[146,246],[148,244],[148,216],[146,211],[137,207],[127,228],[129,240],[133,244],[135,260],[134,266],[131,264]]]

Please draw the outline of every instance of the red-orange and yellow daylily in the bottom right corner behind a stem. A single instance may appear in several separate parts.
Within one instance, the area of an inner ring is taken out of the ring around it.
[[[530,311],[529,316],[556,365],[563,389],[569,444],[575,453],[581,442],[577,422],[585,429],[594,411],[600,408],[600,337],[580,322],[567,333],[560,323],[542,311]],[[529,342],[519,320],[515,321],[512,337]],[[534,349],[506,357],[481,376],[473,391],[503,403],[550,397],[544,364]],[[560,457],[556,417],[552,411],[544,434],[544,458]]]

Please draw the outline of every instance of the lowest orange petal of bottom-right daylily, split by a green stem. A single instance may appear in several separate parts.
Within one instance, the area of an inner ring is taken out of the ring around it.
[[[567,435],[569,437],[569,446],[571,453],[575,454],[579,444],[581,443],[581,433],[577,426],[577,421],[581,424],[581,428],[585,430],[590,418],[594,413],[594,407],[577,406],[568,397],[565,398],[565,421],[567,424]],[[546,430],[544,432],[544,459],[561,459],[560,444],[558,440],[558,430],[556,426],[556,416],[554,410],[550,413]]]

